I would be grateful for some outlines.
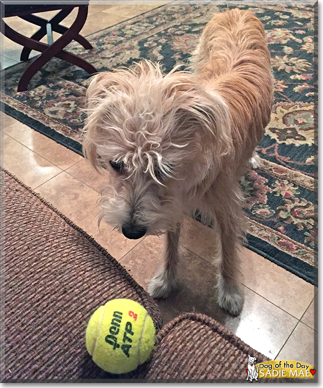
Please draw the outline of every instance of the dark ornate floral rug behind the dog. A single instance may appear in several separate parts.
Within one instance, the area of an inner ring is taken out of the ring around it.
[[[237,5],[235,5],[237,6]],[[232,7],[232,6],[229,6]],[[314,5],[238,5],[265,25],[275,78],[271,122],[258,147],[261,169],[241,184],[247,195],[247,247],[317,284],[317,59]],[[88,36],[93,49],[69,50],[99,71],[161,61],[168,72],[187,63],[214,12],[227,5],[164,5]],[[85,80],[81,69],[52,59],[17,93],[25,63],[6,69],[1,93],[7,114],[81,153]]]

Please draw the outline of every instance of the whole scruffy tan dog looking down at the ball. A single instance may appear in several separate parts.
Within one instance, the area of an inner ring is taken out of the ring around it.
[[[95,75],[83,150],[95,169],[100,155],[110,170],[101,219],[129,239],[166,233],[165,265],[150,294],[165,297],[175,287],[180,225],[198,210],[202,221],[212,220],[217,242],[218,303],[238,315],[239,179],[273,100],[263,25],[239,9],[215,14],[191,68],[163,75],[160,65],[143,61]]]

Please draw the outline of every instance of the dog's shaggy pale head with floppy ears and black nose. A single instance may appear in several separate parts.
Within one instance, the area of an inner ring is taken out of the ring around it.
[[[223,100],[148,61],[92,77],[87,113],[84,155],[110,173],[101,218],[130,239],[174,230],[231,148]]]

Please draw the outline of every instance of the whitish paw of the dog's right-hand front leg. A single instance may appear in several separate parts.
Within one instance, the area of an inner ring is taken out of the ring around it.
[[[238,316],[243,305],[243,295],[238,284],[218,284],[218,304],[231,315]]]

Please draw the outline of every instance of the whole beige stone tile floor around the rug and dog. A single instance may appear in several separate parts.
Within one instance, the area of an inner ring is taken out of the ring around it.
[[[160,1],[162,3],[162,1]],[[146,5],[89,5],[83,35],[126,20],[156,7]],[[71,24],[75,15],[66,19]],[[8,24],[35,29],[11,18]],[[37,28],[37,27],[36,27]],[[4,38],[3,68],[19,61],[21,47]],[[2,163],[11,173],[40,193],[62,213],[93,236],[125,266],[144,288],[161,265],[163,238],[130,241],[107,225],[97,227],[96,201],[107,176],[94,173],[73,151],[1,113]],[[244,342],[271,359],[289,359],[314,365],[317,339],[317,288],[261,256],[242,248],[242,288],[245,302],[239,317],[222,311],[214,291],[216,269],[210,264],[208,228],[185,220],[180,240],[180,287],[159,300],[164,322],[185,311],[206,313],[236,333]]]

